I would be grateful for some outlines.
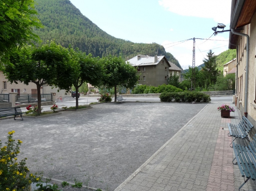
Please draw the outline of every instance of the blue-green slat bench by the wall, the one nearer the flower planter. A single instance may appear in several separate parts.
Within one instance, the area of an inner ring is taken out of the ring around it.
[[[246,139],[249,141],[248,135],[249,133],[251,133],[251,129],[253,127],[254,126],[251,124],[251,122],[244,116],[242,117],[242,120],[239,122],[238,125],[228,123],[228,129],[229,129],[228,136],[233,138],[233,141],[231,142],[230,147],[236,138]]]

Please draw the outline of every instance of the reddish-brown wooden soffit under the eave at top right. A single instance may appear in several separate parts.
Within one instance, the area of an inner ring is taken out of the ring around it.
[[[243,27],[244,25],[251,23],[251,18],[256,10],[255,0],[245,0],[239,19],[236,24],[236,28]]]

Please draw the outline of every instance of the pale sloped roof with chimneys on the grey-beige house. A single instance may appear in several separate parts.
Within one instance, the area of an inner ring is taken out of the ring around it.
[[[130,60],[127,60],[127,62],[129,62],[132,66],[150,66],[150,65],[157,65],[163,58],[165,58],[165,57],[157,56],[157,62],[155,62],[155,57],[144,56],[144,55],[139,54],[139,55],[131,58]]]

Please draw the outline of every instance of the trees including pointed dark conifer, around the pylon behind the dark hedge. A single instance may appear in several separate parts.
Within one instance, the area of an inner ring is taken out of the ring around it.
[[[235,89],[235,74],[223,76],[223,72],[218,70],[216,56],[211,50],[207,58],[203,60],[204,66],[201,70],[195,67],[195,91],[224,91]],[[192,67],[183,74],[184,81],[179,82],[178,76],[170,76],[169,84],[189,90],[191,88]]]

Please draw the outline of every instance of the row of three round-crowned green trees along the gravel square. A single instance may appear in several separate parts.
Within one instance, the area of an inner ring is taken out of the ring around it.
[[[14,49],[10,56],[2,57],[4,74],[11,83],[32,82],[38,90],[38,113],[41,113],[40,87],[50,85],[59,89],[78,89],[85,82],[93,86],[103,86],[115,90],[121,85],[133,88],[137,83],[137,70],[121,57],[92,57],[92,54],[62,47],[51,41],[40,46],[24,46]],[[76,95],[76,108],[78,96]]]

